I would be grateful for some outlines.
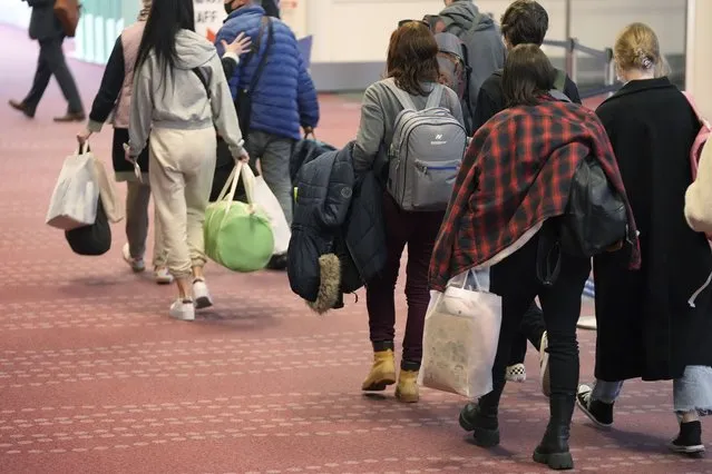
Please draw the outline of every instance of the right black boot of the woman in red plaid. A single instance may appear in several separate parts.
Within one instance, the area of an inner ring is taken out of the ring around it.
[[[549,398],[549,424],[544,438],[534,450],[534,461],[546,464],[555,471],[574,468],[574,458],[568,451],[572,416],[574,415],[574,395],[554,395]]]

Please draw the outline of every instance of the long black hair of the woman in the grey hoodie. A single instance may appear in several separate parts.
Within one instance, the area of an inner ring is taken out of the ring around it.
[[[193,0],[153,0],[135,69],[138,71],[154,51],[164,72],[172,71],[178,59],[176,34],[179,30],[195,31]]]

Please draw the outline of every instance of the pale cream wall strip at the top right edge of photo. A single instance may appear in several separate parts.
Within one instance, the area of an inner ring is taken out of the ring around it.
[[[686,89],[705,117],[712,117],[712,1],[690,0]]]

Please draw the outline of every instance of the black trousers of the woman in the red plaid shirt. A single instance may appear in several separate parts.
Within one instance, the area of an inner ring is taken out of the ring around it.
[[[523,315],[536,296],[542,302],[548,335],[552,395],[576,394],[578,385],[578,342],[576,324],[581,314],[581,295],[591,274],[591,259],[562,255],[560,274],[554,285],[544,286],[536,266],[539,235],[491,269],[496,293],[503,298],[499,345],[492,367],[495,389],[485,395],[487,404],[499,404],[509,365],[511,344],[521,326]]]

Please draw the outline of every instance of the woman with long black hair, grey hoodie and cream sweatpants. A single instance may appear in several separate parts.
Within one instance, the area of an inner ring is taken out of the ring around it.
[[[215,170],[215,129],[247,160],[215,47],[195,32],[193,0],[154,0],[136,53],[127,159],[149,142],[148,176],[178,298],[170,316],[193,320],[212,306],[203,223]]]

